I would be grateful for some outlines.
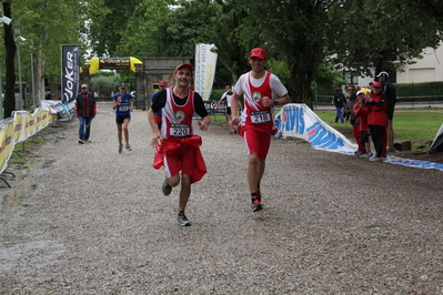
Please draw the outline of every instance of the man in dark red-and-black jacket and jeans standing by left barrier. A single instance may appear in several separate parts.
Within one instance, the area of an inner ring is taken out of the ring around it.
[[[79,118],[79,143],[90,142],[91,122],[97,113],[94,95],[88,91],[88,85],[81,85],[81,92],[75,98],[75,115]]]

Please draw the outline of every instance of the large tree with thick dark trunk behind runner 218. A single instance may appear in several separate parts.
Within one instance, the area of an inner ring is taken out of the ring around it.
[[[275,60],[284,60],[291,73],[293,102],[312,106],[313,73],[325,58],[326,0],[239,0],[246,12],[236,29],[236,41],[246,48],[262,47]]]

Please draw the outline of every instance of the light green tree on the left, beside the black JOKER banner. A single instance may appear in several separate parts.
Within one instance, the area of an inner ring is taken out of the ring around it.
[[[87,4],[100,0],[21,0],[13,2],[14,28],[27,39],[23,53],[33,49],[33,77],[37,105],[44,98],[44,80],[59,81],[61,72],[61,44],[81,44],[80,34],[84,31]],[[30,54],[26,54],[29,57]],[[28,81],[30,81],[28,77]],[[31,83],[29,83],[31,84]]]

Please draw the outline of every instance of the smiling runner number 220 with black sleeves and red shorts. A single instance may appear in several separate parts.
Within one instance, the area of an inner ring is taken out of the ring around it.
[[[178,222],[183,226],[191,225],[184,215],[191,184],[200,181],[207,173],[200,152],[201,138],[192,132],[194,112],[202,118],[198,122],[200,130],[208,131],[211,122],[202,98],[189,89],[193,70],[189,63],[177,67],[172,77],[174,85],[161,90],[148,112],[153,133],[151,145],[158,151],[154,167],[164,166],[167,174],[162,185],[163,194],[169,195],[172,187],[181,183]],[[159,110],[162,111],[161,130],[155,122],[155,112]]]

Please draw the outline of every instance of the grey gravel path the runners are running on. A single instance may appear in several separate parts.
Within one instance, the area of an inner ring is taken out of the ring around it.
[[[443,294],[443,174],[272,142],[251,213],[243,140],[211,124],[209,173],[175,221],[145,112],[50,126],[1,190],[0,294]]]

